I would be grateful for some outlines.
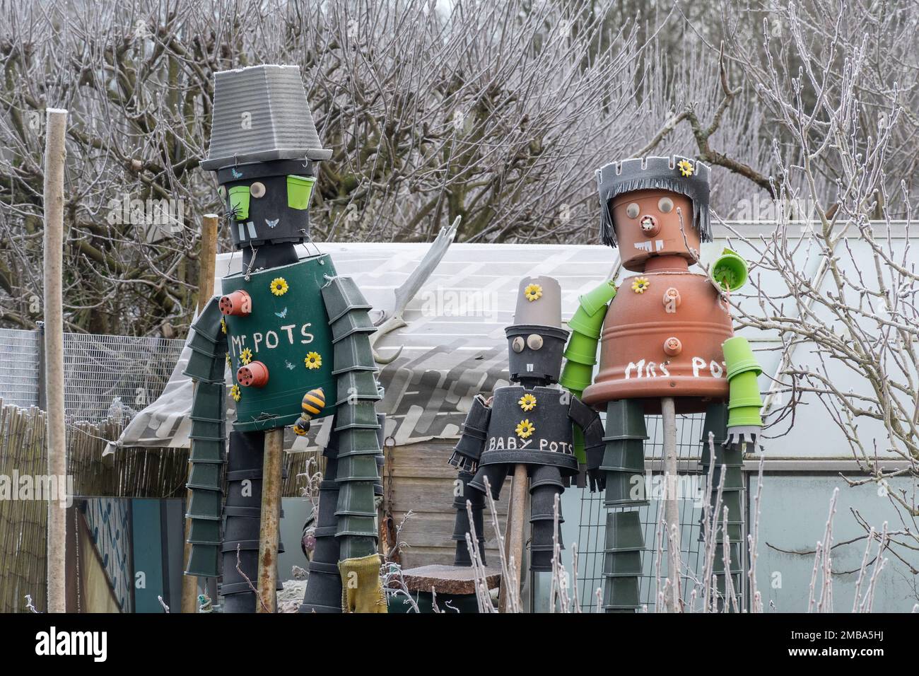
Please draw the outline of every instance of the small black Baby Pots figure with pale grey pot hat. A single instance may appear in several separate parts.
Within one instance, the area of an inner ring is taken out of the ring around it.
[[[449,461],[459,467],[463,484],[462,498],[454,502],[454,565],[471,565],[466,544],[466,533],[470,531],[466,501],[471,502],[473,525],[483,552],[485,479],[492,497],[498,498],[508,472],[516,464],[526,464],[532,531],[529,569],[550,571],[555,496],[578,473],[573,430],[583,430],[587,452],[599,457],[603,451],[603,425],[594,410],[556,384],[568,337],[562,328],[562,289],[558,281],[534,277],[520,282],[514,325],[505,329],[505,335],[512,384],[495,389],[488,400],[482,395],[475,397]],[[559,543],[562,544],[561,535]]]

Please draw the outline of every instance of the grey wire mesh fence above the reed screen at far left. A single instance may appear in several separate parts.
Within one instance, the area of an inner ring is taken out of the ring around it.
[[[0,328],[0,398],[41,404],[40,330]],[[184,340],[65,333],[64,407],[68,423],[127,421],[159,396]]]

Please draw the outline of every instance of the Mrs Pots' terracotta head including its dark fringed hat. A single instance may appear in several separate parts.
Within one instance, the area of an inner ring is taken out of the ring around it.
[[[641,272],[649,258],[679,256],[711,241],[709,167],[686,157],[647,157],[603,166],[600,235],[619,246],[622,265]]]

